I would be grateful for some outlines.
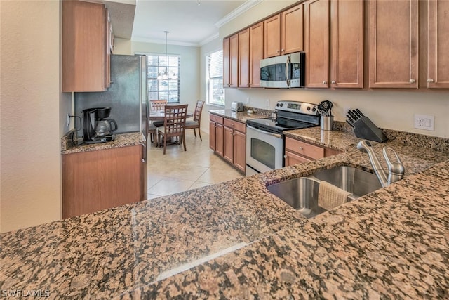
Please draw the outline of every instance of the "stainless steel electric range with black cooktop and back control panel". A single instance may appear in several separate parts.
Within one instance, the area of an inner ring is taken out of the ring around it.
[[[297,101],[276,103],[276,117],[246,121],[246,176],[284,166],[283,132],[319,126],[318,105]]]

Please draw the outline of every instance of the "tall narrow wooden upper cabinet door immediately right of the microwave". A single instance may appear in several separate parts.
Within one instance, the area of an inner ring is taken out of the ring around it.
[[[304,4],[304,14],[306,86],[309,88],[328,88],[329,1],[307,1]]]

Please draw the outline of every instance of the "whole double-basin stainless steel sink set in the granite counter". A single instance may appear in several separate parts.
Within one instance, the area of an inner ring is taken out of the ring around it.
[[[340,166],[318,171],[308,177],[300,177],[268,185],[268,190],[281,198],[303,216],[311,218],[326,209],[318,206],[318,191],[321,181],[351,193],[348,201],[382,188],[377,176],[354,167]]]

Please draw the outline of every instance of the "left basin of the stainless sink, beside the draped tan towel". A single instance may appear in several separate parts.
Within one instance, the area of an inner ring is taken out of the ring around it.
[[[326,211],[318,206],[319,185],[319,181],[314,178],[301,177],[275,183],[267,188],[303,216],[311,218]]]

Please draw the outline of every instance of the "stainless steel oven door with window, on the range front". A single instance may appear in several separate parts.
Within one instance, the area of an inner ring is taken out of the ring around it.
[[[282,168],[282,135],[246,126],[246,176]]]

